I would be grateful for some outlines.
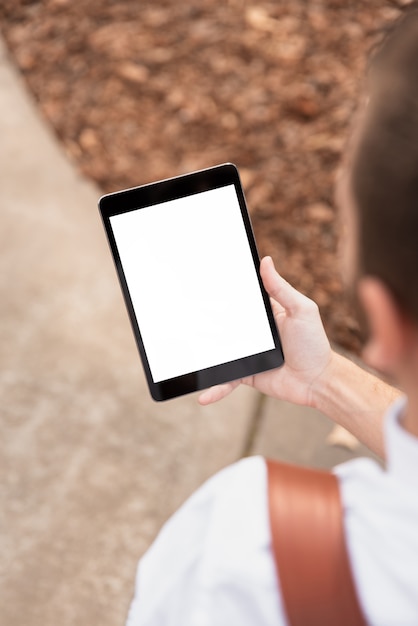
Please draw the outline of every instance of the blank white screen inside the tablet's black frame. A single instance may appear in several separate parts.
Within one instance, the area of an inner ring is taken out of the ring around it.
[[[234,185],[110,222],[154,382],[274,349]]]

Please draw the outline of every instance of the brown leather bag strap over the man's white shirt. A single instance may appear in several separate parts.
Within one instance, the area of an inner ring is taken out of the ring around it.
[[[366,626],[345,546],[337,478],[267,461],[272,547],[291,626]]]

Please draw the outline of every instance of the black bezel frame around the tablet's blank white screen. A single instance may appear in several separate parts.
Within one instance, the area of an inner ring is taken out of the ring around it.
[[[142,341],[141,331],[138,326],[134,307],[129,294],[122,263],[120,260],[117,244],[113,235],[110,218],[129,211],[138,210],[155,204],[168,202],[177,198],[191,196],[200,192],[217,189],[233,184],[237,193],[241,215],[251,249],[258,282],[264,300],[267,317],[270,324],[275,347],[267,352],[261,352],[247,356],[236,361],[222,363],[198,372],[190,372],[169,380],[154,382],[146,350]],[[239,178],[238,170],[232,163],[217,165],[205,170],[192,172],[175,178],[125,189],[102,196],[99,200],[99,209],[106,230],[110,249],[116,266],[119,282],[122,288],[125,304],[128,309],[137,347],[141,356],[145,375],[151,396],[156,401],[169,400],[194,391],[200,391],[213,385],[225,383],[231,380],[251,376],[262,371],[274,369],[283,365],[284,357],[279,334],[273,317],[269,297],[262,284],[259,267],[260,260],[254,239],[250,217],[247,211],[244,192]]]

